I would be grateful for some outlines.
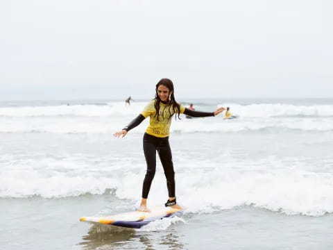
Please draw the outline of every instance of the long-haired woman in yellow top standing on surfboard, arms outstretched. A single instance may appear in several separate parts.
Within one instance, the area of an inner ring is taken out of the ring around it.
[[[177,117],[180,119],[180,114],[190,115],[191,117],[214,117],[223,112],[223,110],[225,110],[225,108],[218,108],[212,113],[207,113],[185,108],[185,106],[182,106],[182,104],[178,103],[175,99],[172,81],[168,78],[162,78],[156,85],[155,98],[146,105],[142,113],[133,119],[128,126],[114,133],[115,137],[123,138],[127,135],[128,131],[141,124],[146,117],[150,117],[150,123],[148,128],[146,128],[143,140],[147,170],[142,187],[142,201],[139,206],[139,211],[149,211],[147,208],[147,198],[155,176],[156,151],[160,156],[164,174],[167,178],[169,199],[167,203],[165,203],[165,206],[180,208],[176,202],[175,172],[173,170],[172,154],[169,144],[169,128],[173,115],[176,115],[176,119]]]

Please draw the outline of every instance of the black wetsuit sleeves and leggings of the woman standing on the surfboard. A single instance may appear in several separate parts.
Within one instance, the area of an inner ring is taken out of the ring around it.
[[[214,113],[200,112],[189,110],[185,108],[185,115],[191,117],[211,117]],[[145,117],[143,115],[138,115],[133,119],[128,126],[123,128],[123,130],[130,131],[132,128],[138,126]],[[151,183],[155,176],[156,171],[156,151],[160,156],[160,160],[164,169],[165,177],[167,178],[167,188],[169,192],[169,197],[176,197],[175,194],[175,172],[173,170],[172,163],[172,153],[169,144],[169,136],[166,138],[157,138],[148,133],[144,133],[144,157],[146,158],[147,171],[144,177],[144,185],[142,188],[142,198],[147,199],[149,190],[151,189]]]

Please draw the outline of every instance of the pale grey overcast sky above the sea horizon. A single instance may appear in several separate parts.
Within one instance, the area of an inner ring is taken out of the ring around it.
[[[0,0],[0,99],[333,97],[332,7]]]

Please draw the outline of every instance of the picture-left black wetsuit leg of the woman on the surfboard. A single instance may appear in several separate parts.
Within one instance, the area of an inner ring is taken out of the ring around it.
[[[156,139],[152,135],[144,134],[144,157],[147,163],[147,172],[144,176],[144,185],[142,187],[142,198],[147,199],[151,183],[156,171]]]

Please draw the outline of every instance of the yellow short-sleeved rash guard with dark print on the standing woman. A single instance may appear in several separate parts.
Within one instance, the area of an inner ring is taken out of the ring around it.
[[[169,136],[171,119],[174,115],[173,109],[162,102],[160,102],[160,116],[159,121],[157,121],[156,110],[154,107],[155,100],[150,101],[147,106],[142,110],[141,115],[146,117],[150,117],[149,126],[146,129],[146,133],[148,135],[153,135],[158,138],[165,138]],[[171,112],[171,117],[169,116],[169,108]],[[185,106],[180,104],[180,113],[183,114],[185,111]]]

